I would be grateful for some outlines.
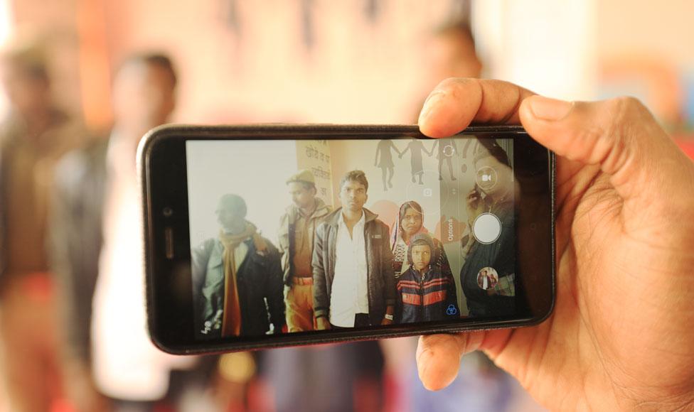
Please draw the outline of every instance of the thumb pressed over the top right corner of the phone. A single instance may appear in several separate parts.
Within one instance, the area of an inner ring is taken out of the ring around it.
[[[599,165],[625,200],[648,195],[645,184],[678,180],[683,164],[691,168],[684,153],[634,98],[564,102],[531,96],[521,103],[519,116],[528,134],[558,156]]]

